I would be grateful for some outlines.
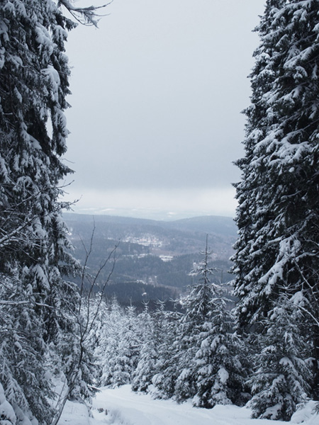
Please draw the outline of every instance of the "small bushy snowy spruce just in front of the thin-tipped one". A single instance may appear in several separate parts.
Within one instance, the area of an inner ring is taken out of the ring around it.
[[[221,288],[214,283],[212,288],[215,295],[210,303],[209,320],[201,326],[194,359],[196,395],[193,404],[206,409],[216,404],[243,405],[247,402],[245,347],[233,331],[233,314],[227,310]]]

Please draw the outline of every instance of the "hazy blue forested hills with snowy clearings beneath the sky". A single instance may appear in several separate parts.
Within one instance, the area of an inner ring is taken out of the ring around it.
[[[201,260],[206,234],[213,250],[212,265],[216,280],[227,283],[236,239],[236,227],[229,217],[205,216],[176,221],[145,220],[109,215],[80,215],[66,213],[74,256],[84,263],[94,230],[89,268],[92,274],[116,249],[116,267],[106,295],[116,295],[127,304],[142,300],[176,298],[192,283],[189,272]],[[108,276],[111,265],[101,272],[101,280]],[[144,295],[143,295],[144,294]]]

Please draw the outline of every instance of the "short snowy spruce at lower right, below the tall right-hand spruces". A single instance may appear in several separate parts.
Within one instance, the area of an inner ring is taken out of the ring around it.
[[[264,320],[266,334],[259,334],[262,350],[255,358],[250,379],[253,417],[289,421],[296,404],[307,398],[310,368],[303,359],[307,352],[300,323],[303,314],[281,299]]]

